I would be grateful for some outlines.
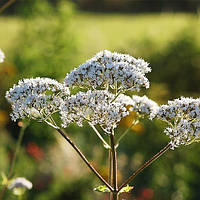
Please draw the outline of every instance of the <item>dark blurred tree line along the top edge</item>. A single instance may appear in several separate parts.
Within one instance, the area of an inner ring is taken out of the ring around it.
[[[1,0],[0,6],[8,0]],[[71,0],[77,7],[93,12],[193,12],[198,13],[200,0]],[[41,1],[42,2],[42,1]],[[56,6],[59,0],[49,0]],[[17,0],[6,10],[8,14],[20,14],[21,8],[26,5],[31,7],[34,0]]]

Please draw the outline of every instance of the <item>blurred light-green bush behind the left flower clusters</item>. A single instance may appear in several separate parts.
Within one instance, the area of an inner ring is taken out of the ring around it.
[[[63,78],[73,64],[76,38],[71,29],[73,5],[60,2],[53,8],[36,0],[16,47],[13,62],[20,77]],[[28,12],[28,11],[27,11]]]

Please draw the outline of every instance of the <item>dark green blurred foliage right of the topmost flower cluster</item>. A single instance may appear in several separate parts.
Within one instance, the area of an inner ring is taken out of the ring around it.
[[[153,68],[150,79],[166,83],[172,96],[199,93],[200,45],[190,27],[167,47],[149,56]]]

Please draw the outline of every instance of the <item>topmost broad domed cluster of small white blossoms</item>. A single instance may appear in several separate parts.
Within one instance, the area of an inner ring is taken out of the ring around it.
[[[143,59],[104,50],[67,74],[65,85],[139,91],[141,87],[149,88],[145,77],[151,71],[148,65]]]

